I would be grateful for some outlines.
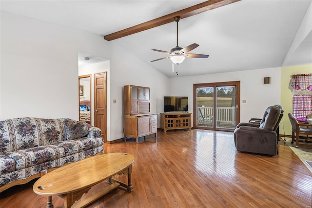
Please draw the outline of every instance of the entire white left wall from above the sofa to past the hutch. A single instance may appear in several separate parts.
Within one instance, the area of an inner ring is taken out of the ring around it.
[[[108,141],[123,137],[123,85],[151,87],[152,111],[162,110],[169,79],[114,42],[8,12],[0,15],[0,120],[26,116],[78,120],[79,52],[110,61]]]

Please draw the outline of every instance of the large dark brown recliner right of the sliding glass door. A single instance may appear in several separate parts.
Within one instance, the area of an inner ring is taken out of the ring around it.
[[[283,114],[281,106],[266,109],[260,125],[239,123],[234,130],[237,151],[275,156],[277,154],[276,129]]]

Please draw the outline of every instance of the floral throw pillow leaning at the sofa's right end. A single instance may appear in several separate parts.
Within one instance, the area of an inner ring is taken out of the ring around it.
[[[78,121],[74,124],[64,125],[65,140],[73,140],[86,136],[89,128],[85,121]]]

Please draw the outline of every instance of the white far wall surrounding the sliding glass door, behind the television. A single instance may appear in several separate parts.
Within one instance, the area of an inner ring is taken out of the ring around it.
[[[240,121],[248,122],[250,118],[262,118],[268,106],[280,104],[280,73],[280,68],[269,68],[175,77],[169,81],[170,95],[188,96],[188,110],[193,112],[193,84],[240,81]],[[271,83],[264,84],[264,77],[271,77]],[[242,100],[246,103],[243,104]]]

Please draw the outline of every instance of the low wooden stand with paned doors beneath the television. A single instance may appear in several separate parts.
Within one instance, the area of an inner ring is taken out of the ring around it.
[[[191,115],[188,112],[160,113],[160,128],[166,132],[172,129],[190,129]]]

